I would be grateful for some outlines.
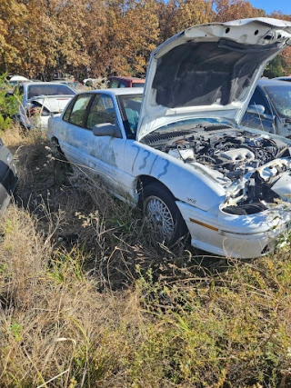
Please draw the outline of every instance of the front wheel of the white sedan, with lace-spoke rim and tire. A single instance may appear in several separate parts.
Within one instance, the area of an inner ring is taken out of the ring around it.
[[[143,210],[158,241],[175,244],[188,235],[175,198],[162,184],[148,184],[143,190]]]

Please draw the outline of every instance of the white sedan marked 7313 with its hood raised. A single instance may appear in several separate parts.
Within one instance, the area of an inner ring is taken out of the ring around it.
[[[189,233],[213,254],[267,254],[290,229],[291,141],[238,124],[290,37],[265,18],[188,28],[154,51],[145,92],[76,95],[48,138],[140,204],[166,242]]]

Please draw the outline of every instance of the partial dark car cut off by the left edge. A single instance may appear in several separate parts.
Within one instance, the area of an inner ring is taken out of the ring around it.
[[[0,215],[11,201],[17,181],[13,155],[0,138]]]

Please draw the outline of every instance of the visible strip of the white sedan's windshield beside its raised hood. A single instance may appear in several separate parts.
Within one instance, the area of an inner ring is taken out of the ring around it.
[[[143,95],[119,95],[125,114],[125,124],[128,124],[131,134],[136,134],[142,99]]]

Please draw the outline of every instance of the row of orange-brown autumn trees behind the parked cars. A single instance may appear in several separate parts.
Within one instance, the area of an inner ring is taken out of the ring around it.
[[[146,74],[151,51],[192,25],[271,16],[245,0],[1,0],[0,73]],[[290,47],[266,71],[291,74]]]

